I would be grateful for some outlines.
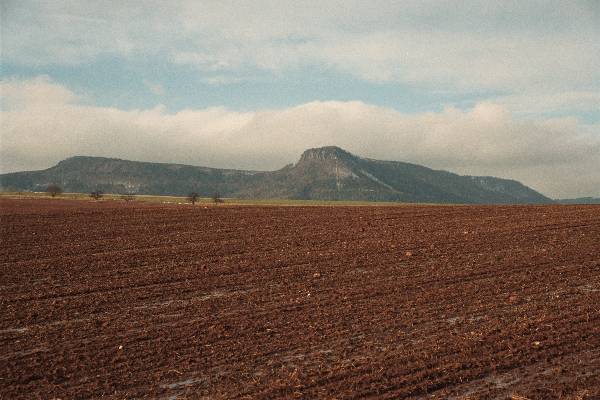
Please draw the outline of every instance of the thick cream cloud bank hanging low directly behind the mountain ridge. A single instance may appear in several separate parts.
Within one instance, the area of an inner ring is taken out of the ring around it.
[[[82,105],[44,77],[1,85],[3,171],[45,168],[78,154],[276,169],[306,148],[334,144],[371,158],[515,178],[555,197],[600,195],[600,126],[517,119],[496,103],[411,115],[358,101],[169,113]]]

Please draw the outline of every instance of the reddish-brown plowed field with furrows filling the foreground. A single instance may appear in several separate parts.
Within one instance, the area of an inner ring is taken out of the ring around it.
[[[0,200],[0,398],[600,398],[600,207]]]

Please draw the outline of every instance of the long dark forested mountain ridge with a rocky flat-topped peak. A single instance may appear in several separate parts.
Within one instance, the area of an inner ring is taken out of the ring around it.
[[[416,164],[355,156],[339,147],[306,150],[277,171],[243,171],[72,157],[42,171],[0,175],[2,190],[186,195],[198,192],[255,199],[368,200],[423,203],[552,203],[513,180],[461,176]]]

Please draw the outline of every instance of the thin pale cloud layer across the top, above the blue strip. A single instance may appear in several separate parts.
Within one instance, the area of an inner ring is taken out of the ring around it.
[[[597,111],[600,93],[599,9],[585,0],[23,0],[3,3],[2,50],[28,66],[156,57],[213,84],[317,66],[424,90],[498,92],[510,107],[551,94],[585,112]],[[571,96],[581,92],[591,95]],[[553,101],[535,108],[556,111]]]

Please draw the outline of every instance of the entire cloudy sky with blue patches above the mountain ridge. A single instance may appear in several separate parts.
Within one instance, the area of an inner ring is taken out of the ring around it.
[[[600,197],[600,1],[0,1],[0,172],[310,147]]]

